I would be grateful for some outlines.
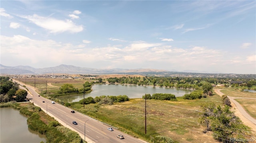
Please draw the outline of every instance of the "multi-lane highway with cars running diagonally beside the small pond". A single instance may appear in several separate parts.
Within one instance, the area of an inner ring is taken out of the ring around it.
[[[17,80],[14,81],[18,82]],[[26,90],[22,87],[23,83],[18,83],[21,89]],[[84,139],[84,134],[86,134],[85,138],[88,143],[146,143],[113,127],[114,131],[108,131],[107,128],[110,126],[76,111],[71,113],[72,109],[58,103],[52,104],[51,100],[38,96],[39,94],[32,87],[26,85],[26,88],[29,90],[27,98],[31,98],[30,102],[34,102],[36,106],[39,106],[46,114],[54,117],[63,126],[79,133],[82,139]],[[76,121],[78,125],[72,124],[72,121]],[[124,139],[116,137],[116,135],[120,134],[124,136]]]

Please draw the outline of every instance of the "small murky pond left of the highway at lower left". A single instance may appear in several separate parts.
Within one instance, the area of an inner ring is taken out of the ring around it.
[[[0,143],[46,143],[45,135],[28,128],[27,118],[11,107],[0,108]]]

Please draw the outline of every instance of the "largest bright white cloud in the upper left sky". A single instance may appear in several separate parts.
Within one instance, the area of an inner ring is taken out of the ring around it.
[[[34,14],[33,16],[23,16],[30,20],[30,22],[45,28],[50,31],[50,33],[62,33],[69,31],[71,33],[80,32],[83,30],[82,25],[75,25],[71,20],[57,20],[49,17],[42,17]]]

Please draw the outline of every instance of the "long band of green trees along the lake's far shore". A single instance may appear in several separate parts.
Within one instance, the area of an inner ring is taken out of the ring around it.
[[[96,78],[97,79],[97,78]],[[98,78],[99,82],[102,82],[102,78]],[[241,86],[252,87],[256,85],[255,79],[241,79],[241,78],[200,78],[200,77],[158,77],[158,76],[144,76],[144,77],[114,77],[107,79],[109,83],[120,83],[120,84],[137,84],[137,85],[153,85],[153,86],[165,86],[165,87],[176,87],[176,88],[193,88],[198,89],[203,85],[201,81],[209,82],[211,84],[224,84],[228,86],[230,81],[242,81]],[[236,84],[232,85],[235,86]],[[236,87],[239,85],[237,84]]]

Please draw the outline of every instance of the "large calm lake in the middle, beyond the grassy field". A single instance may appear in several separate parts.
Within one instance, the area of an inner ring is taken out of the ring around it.
[[[154,93],[170,93],[174,94],[176,97],[183,96],[184,94],[189,94],[192,90],[182,89],[182,88],[169,88],[169,87],[158,87],[158,86],[138,86],[138,85],[127,85],[127,84],[95,84],[92,86],[92,92],[85,94],[86,97],[96,96],[118,96],[118,95],[127,95],[129,98],[142,98],[145,94],[154,94]],[[78,102],[81,99],[84,99],[83,94],[74,95],[74,96],[62,96],[58,98],[64,102]]]

